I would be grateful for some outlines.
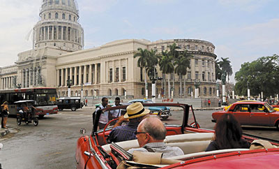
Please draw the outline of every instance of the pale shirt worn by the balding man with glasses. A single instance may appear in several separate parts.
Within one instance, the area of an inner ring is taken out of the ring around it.
[[[150,142],[144,145],[143,147],[136,148],[136,149],[129,149],[128,153],[133,154],[134,151],[151,152],[150,149],[152,152],[163,153],[162,158],[184,155],[184,152],[182,151],[181,148],[167,146],[165,142]]]

